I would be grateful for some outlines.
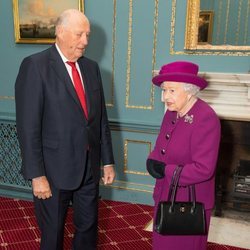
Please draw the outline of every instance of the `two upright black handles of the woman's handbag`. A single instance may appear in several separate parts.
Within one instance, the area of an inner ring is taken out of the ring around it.
[[[170,184],[169,193],[168,193],[168,201],[171,202],[171,205],[169,207],[169,212],[173,212],[173,210],[174,210],[176,192],[177,192],[178,183],[179,183],[182,169],[183,169],[183,166],[180,166],[180,165],[177,166],[175,171],[174,171],[173,177],[171,179],[171,184]],[[193,203],[193,205],[191,207],[191,213],[194,213],[195,208],[196,208],[195,186],[190,185],[190,186],[188,186],[188,189],[189,189],[191,201]]]

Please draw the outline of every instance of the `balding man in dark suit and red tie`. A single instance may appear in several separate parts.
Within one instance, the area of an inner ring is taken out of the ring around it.
[[[32,180],[41,249],[63,249],[68,206],[74,209],[73,249],[96,249],[98,190],[115,178],[102,80],[83,56],[90,23],[64,11],[56,43],[25,58],[16,79],[16,123],[22,173]]]

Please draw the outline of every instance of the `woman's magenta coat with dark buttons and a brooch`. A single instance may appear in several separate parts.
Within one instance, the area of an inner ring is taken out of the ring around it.
[[[173,172],[181,164],[184,166],[179,181],[182,187],[178,190],[177,200],[188,200],[186,186],[195,184],[196,200],[204,203],[209,222],[215,200],[220,121],[213,109],[200,99],[184,117],[177,119],[176,116],[176,112],[166,112],[155,147],[148,157],[166,163],[165,178],[158,179],[154,188],[155,208],[160,200],[167,199]],[[167,248],[168,245],[175,247],[175,250],[183,246],[185,249],[203,249],[201,245],[197,248],[190,245],[188,248],[188,242],[191,244],[195,238],[201,238],[205,243],[207,240],[204,236],[161,236],[154,232],[153,247],[157,250],[171,249]],[[181,245],[178,246],[178,243]]]

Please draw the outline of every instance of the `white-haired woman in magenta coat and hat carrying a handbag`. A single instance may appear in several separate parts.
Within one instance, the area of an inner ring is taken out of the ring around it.
[[[155,147],[148,156],[148,172],[156,178],[155,214],[167,200],[171,178],[183,165],[176,200],[188,201],[188,185],[195,185],[196,201],[205,207],[207,232],[215,195],[215,168],[220,142],[220,121],[213,109],[197,97],[207,82],[198,65],[177,61],[163,65],[153,83],[163,90],[167,111]],[[164,164],[159,164],[162,162]],[[161,235],[153,232],[155,250],[205,250],[207,235]]]

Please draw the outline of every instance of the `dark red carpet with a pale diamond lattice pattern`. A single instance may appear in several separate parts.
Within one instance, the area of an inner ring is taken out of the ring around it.
[[[72,209],[65,225],[64,249],[71,249]],[[152,207],[118,201],[100,200],[98,249],[152,249],[151,232],[145,225],[152,219]],[[34,217],[33,203],[0,197],[0,249],[38,250],[40,232]],[[208,243],[208,250],[242,250]]]

